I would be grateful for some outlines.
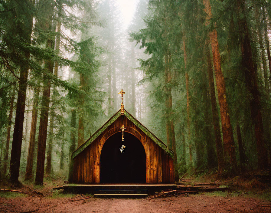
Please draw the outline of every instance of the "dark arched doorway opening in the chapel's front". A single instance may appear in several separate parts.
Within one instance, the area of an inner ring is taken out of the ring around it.
[[[109,137],[100,157],[101,183],[145,183],[146,154],[142,143],[130,133],[121,132]],[[121,146],[126,148],[120,151]]]

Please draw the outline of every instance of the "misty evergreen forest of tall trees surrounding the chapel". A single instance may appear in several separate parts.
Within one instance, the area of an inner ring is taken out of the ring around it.
[[[121,109],[123,89],[124,109],[172,152],[168,183],[242,182],[265,197],[236,212],[268,212],[270,50],[268,0],[1,0],[0,188],[46,198],[50,184],[76,183],[73,153]],[[28,196],[11,191],[3,203]]]

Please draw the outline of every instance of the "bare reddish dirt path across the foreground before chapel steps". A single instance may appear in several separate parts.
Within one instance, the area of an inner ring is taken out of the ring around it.
[[[83,198],[83,197],[80,197]],[[80,199],[75,198],[75,199]],[[39,198],[0,198],[0,212],[35,212],[59,213],[224,213],[224,212],[261,212],[270,213],[270,202],[255,198],[220,197],[207,195],[193,195],[189,197],[168,197],[155,199],[101,199],[89,198],[76,202],[65,202],[46,210],[60,202],[71,198],[43,198],[42,205]],[[44,211],[46,210],[46,211]]]

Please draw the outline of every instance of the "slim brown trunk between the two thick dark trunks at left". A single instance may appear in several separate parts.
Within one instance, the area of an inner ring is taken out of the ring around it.
[[[35,139],[36,139],[36,129],[37,129],[37,120],[38,120],[38,96],[40,93],[40,87],[38,87],[34,92],[34,103],[32,109],[32,120],[29,136],[29,146],[28,146],[28,155],[26,162],[26,171],[24,180],[32,179],[32,170],[33,170],[33,159],[34,159],[34,148],[35,148]]]

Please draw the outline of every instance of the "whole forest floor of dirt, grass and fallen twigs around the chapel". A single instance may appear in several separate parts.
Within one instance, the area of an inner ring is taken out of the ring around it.
[[[271,212],[271,188],[258,178],[235,177],[217,180],[212,176],[182,179],[182,185],[216,183],[229,186],[225,192],[201,192],[197,195],[162,195],[158,198],[103,199],[92,195],[63,194],[53,188],[63,185],[58,179],[46,179],[43,187],[24,184],[22,187],[2,184],[1,189],[26,192],[0,192],[0,212]],[[38,192],[38,193],[37,193]],[[39,194],[39,195],[38,195]]]

